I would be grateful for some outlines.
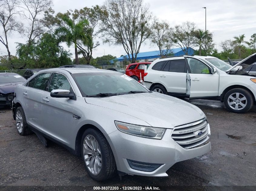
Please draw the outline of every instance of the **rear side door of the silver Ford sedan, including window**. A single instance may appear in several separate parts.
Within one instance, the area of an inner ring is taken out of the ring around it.
[[[42,73],[32,78],[23,89],[23,109],[27,123],[34,128],[43,129],[42,126],[42,94],[45,91],[51,73]]]

